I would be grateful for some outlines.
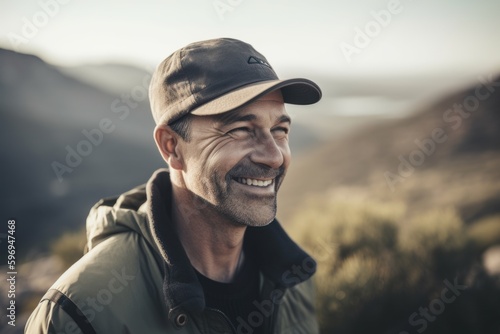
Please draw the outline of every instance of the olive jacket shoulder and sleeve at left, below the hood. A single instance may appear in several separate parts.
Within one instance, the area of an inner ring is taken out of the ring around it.
[[[154,251],[139,234],[130,231],[110,236],[54,283],[47,294],[51,298],[42,299],[26,328],[73,333],[65,328],[76,322],[77,314],[97,333],[140,333],[145,328],[155,333],[154,328],[164,327],[166,312],[162,277]],[[65,308],[71,304],[76,308],[74,314]]]

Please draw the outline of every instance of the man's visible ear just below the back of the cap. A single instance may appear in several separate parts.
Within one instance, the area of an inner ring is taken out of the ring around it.
[[[182,157],[179,154],[179,136],[166,124],[158,124],[154,130],[156,146],[163,160],[170,168],[181,170]]]

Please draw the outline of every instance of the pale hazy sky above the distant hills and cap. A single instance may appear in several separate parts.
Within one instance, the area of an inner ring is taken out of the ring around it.
[[[64,65],[153,67],[226,36],[278,73],[500,71],[498,0],[0,0],[0,32],[0,47]]]

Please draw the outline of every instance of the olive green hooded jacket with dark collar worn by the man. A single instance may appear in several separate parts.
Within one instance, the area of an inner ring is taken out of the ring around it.
[[[235,328],[205,307],[203,290],[170,221],[170,177],[103,199],[87,219],[86,254],[49,289],[25,333],[317,333],[316,263],[277,221],[248,228],[260,265],[260,299]],[[186,209],[186,208],[181,208]],[[189,208],[188,208],[189,209]]]

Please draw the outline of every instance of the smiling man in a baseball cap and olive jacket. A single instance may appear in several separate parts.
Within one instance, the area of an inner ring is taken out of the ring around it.
[[[92,208],[86,255],[26,332],[317,332],[316,263],[275,215],[290,163],[284,103],[320,98],[315,83],[279,80],[238,40],[193,43],[165,59],[150,101],[169,170]]]

